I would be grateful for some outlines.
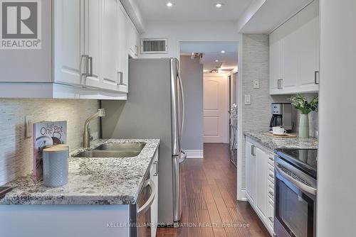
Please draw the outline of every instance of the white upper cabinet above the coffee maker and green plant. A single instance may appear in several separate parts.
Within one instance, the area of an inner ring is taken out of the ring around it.
[[[270,94],[318,92],[319,1],[270,34]]]

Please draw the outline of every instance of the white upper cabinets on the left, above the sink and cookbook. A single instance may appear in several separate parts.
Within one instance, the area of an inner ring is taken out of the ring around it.
[[[135,26],[120,0],[38,4],[42,47],[1,50],[0,97],[126,99]]]

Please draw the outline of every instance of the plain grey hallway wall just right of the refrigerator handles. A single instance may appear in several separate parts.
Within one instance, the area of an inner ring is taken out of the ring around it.
[[[185,115],[182,134],[184,150],[203,150],[203,65],[199,59],[180,57]]]

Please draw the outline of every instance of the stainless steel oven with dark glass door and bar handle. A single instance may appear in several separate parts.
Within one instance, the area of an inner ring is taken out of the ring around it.
[[[300,152],[303,155],[303,153]],[[305,170],[300,155],[277,152],[275,158],[275,215],[274,231],[278,237],[315,237],[316,174]],[[311,167],[310,165],[308,165]],[[316,169],[315,169],[316,171]]]

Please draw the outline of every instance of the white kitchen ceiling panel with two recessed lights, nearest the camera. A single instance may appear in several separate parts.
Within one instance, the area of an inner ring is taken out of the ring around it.
[[[238,21],[252,0],[135,0],[145,21]],[[167,7],[172,2],[172,7]],[[217,9],[215,4],[223,6]]]

